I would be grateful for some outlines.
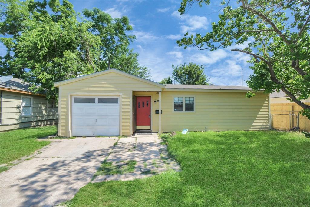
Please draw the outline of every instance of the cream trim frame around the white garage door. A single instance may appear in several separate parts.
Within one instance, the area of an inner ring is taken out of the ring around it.
[[[109,96],[117,96],[119,97],[119,136],[122,136],[122,93],[87,93],[87,92],[77,92],[77,93],[68,93],[67,96],[67,107],[68,107],[68,114],[67,117],[69,118],[67,121],[67,134],[69,135],[68,137],[72,137],[72,102],[73,102],[73,97],[109,97]],[[59,106],[58,106],[59,107]],[[60,107],[59,107],[60,108]],[[60,116],[60,115],[59,115]]]

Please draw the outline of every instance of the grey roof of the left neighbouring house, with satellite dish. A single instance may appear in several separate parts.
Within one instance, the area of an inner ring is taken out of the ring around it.
[[[11,80],[6,82],[6,85],[0,83],[0,90],[45,96],[41,93],[33,93],[29,89],[29,86],[30,83],[24,82],[22,79],[12,78]]]

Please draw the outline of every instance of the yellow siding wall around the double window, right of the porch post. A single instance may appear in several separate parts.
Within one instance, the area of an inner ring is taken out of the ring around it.
[[[173,100],[194,96],[195,112],[174,112]],[[162,131],[260,130],[269,128],[268,95],[243,92],[162,92]]]

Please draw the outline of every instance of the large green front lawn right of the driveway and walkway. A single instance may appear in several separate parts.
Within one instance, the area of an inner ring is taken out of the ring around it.
[[[310,139],[276,131],[177,133],[182,171],[90,183],[69,206],[309,206]]]

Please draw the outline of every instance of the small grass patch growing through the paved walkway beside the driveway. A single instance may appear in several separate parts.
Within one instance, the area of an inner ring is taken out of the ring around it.
[[[135,170],[135,164],[135,160],[120,161],[116,165],[113,165],[112,162],[104,161],[98,171],[94,174],[94,177],[98,175],[133,173]]]

